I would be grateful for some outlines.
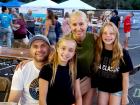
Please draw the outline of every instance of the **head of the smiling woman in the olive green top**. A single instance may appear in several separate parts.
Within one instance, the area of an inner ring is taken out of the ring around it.
[[[76,41],[84,40],[86,36],[88,21],[86,15],[76,11],[70,16],[70,27]]]

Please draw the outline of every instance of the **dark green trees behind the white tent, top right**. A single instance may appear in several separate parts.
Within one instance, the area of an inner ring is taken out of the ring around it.
[[[82,0],[97,9],[134,9],[140,10],[140,0]],[[118,2],[118,4],[117,4]]]

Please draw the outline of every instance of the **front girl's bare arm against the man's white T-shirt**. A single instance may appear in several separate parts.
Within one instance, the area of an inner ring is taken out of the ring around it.
[[[39,105],[47,105],[48,81],[39,78]]]

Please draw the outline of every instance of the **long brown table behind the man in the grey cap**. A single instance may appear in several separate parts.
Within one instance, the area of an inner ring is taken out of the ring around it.
[[[0,47],[0,57],[19,60],[31,59],[29,49],[25,48]]]

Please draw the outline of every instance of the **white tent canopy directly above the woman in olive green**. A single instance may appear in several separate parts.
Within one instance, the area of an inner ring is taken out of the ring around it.
[[[81,0],[68,0],[58,4],[55,8],[96,10],[96,8],[84,3]]]

